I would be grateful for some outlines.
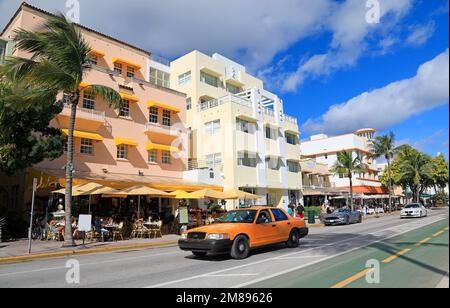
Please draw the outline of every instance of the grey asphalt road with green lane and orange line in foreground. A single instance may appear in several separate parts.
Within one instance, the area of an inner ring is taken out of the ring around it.
[[[448,217],[435,210],[313,228],[298,248],[258,249],[246,260],[164,247],[0,265],[0,287],[435,287],[448,273]],[[364,279],[376,274],[368,260],[380,263],[377,284]],[[67,283],[68,261],[80,264],[79,283]]]

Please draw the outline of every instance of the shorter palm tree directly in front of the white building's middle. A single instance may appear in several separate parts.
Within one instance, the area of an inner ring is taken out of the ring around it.
[[[334,164],[332,171],[338,175],[344,174],[350,180],[350,207],[353,206],[353,174],[357,172],[365,172],[367,166],[362,162],[360,156],[353,158],[352,151],[344,151],[337,153],[338,160]]]

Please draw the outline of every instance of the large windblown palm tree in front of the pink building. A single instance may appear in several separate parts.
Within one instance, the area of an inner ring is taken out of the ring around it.
[[[84,75],[91,68],[88,55],[91,47],[82,37],[79,27],[59,13],[49,17],[42,29],[32,32],[23,29],[15,32],[16,47],[31,54],[30,59],[11,57],[0,70],[15,82],[26,81],[31,87],[53,89],[64,93],[71,107],[67,140],[66,168],[66,230],[64,246],[74,246],[72,238],[72,176],[74,127],[77,106],[82,90],[89,90],[102,97],[114,109],[120,108],[119,93],[102,85],[89,85],[80,89]]]

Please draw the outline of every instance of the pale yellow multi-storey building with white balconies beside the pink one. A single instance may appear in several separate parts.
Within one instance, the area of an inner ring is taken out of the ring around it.
[[[297,119],[261,80],[219,54],[193,51],[170,64],[170,84],[187,94],[189,169],[219,173],[225,189],[260,195],[258,204],[299,200]]]

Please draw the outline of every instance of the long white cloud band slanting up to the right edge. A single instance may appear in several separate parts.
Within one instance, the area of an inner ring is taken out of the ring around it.
[[[361,127],[384,129],[423,111],[448,103],[448,49],[422,64],[416,76],[365,92],[349,101],[331,106],[320,118],[309,119],[308,133],[355,131]]]

